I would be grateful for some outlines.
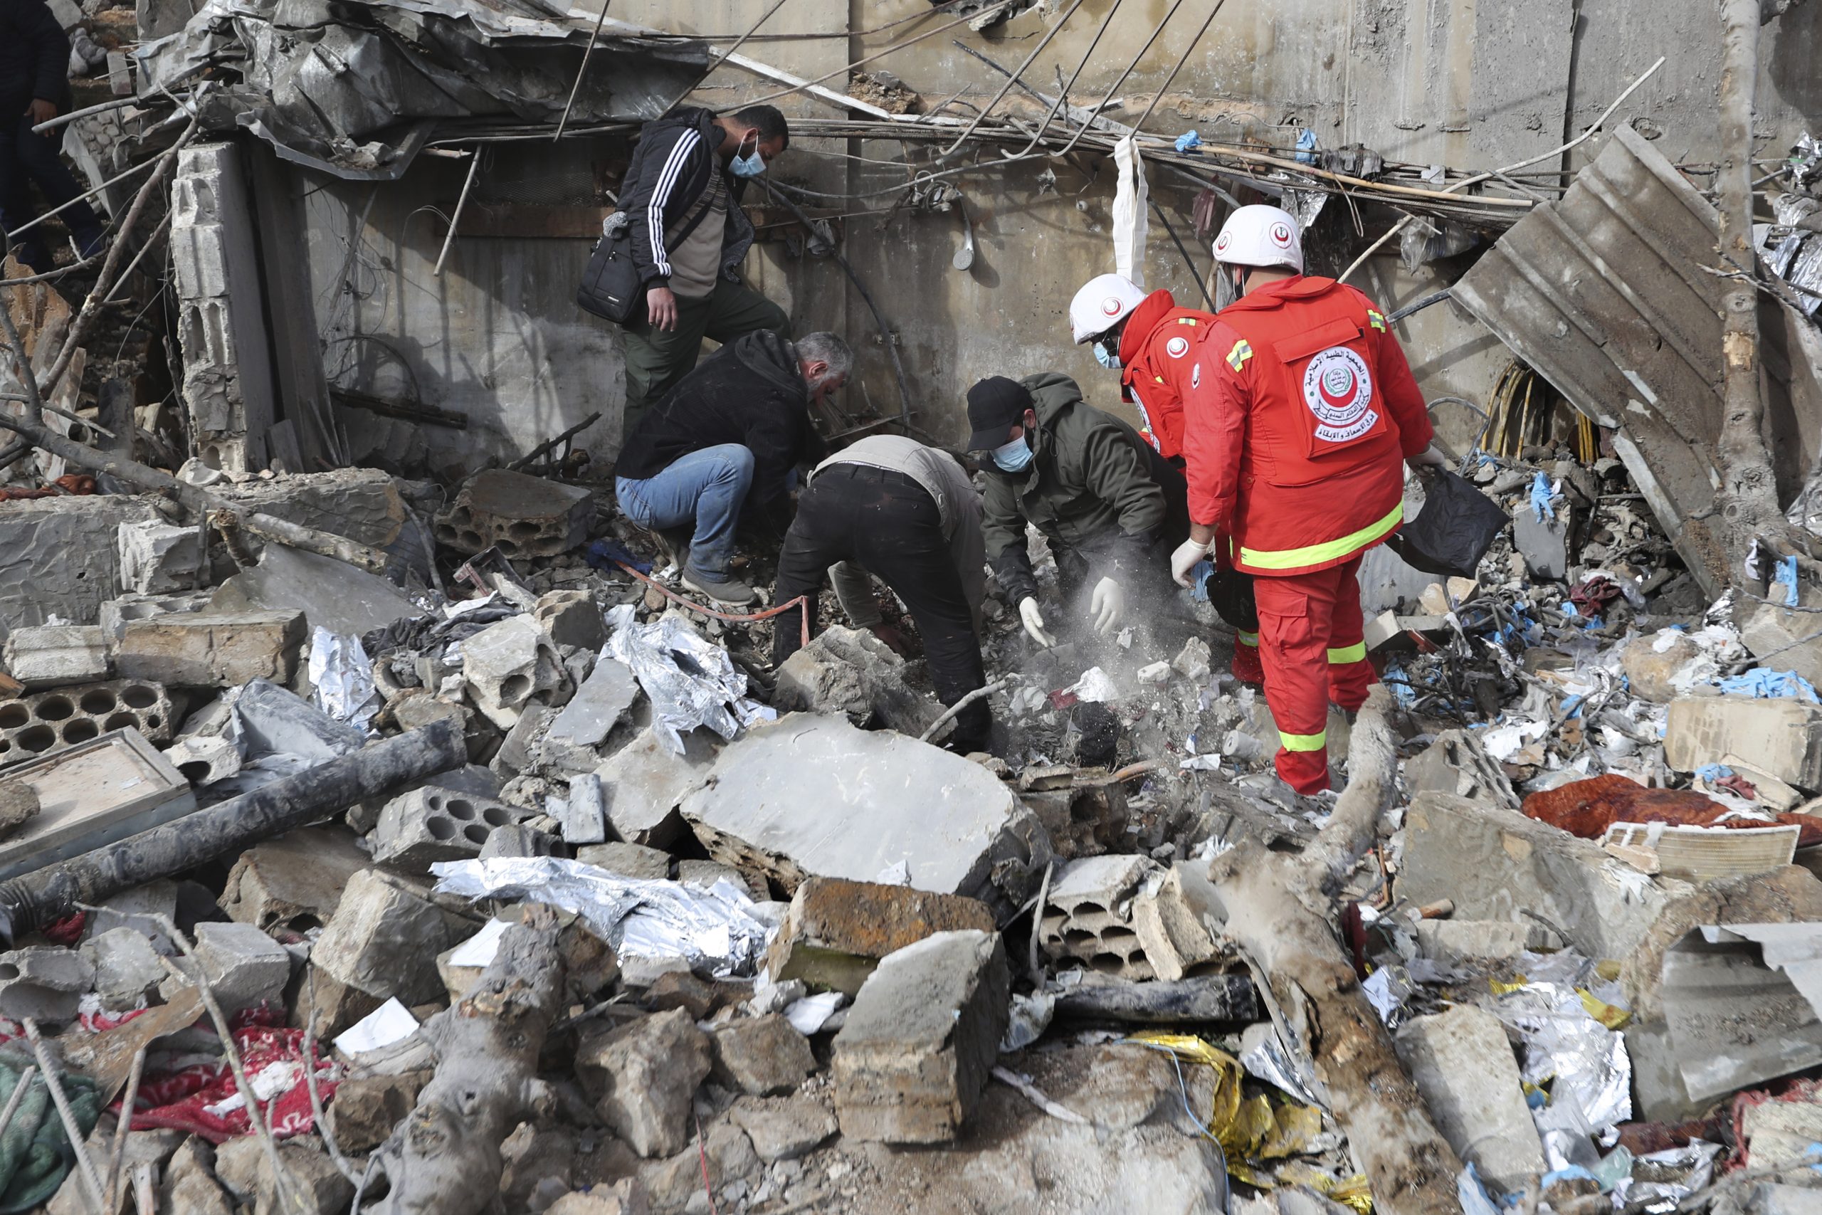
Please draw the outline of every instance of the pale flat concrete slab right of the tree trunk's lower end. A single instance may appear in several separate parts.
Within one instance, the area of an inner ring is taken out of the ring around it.
[[[1492,1013],[1461,1004],[1412,1018],[1397,1031],[1396,1046],[1436,1128],[1481,1179],[1520,1193],[1545,1173],[1518,1062]]]

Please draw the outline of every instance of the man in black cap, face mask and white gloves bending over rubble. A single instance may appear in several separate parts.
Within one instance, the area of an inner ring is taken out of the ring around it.
[[[1037,601],[1026,523],[1049,541],[1066,594],[1099,574],[1088,618],[1095,632],[1119,628],[1130,592],[1162,583],[1155,570],[1164,557],[1153,557],[1153,546],[1168,552],[1190,530],[1182,474],[1057,372],[980,381],[967,390],[967,450],[988,452],[991,463],[988,561],[1026,632],[1039,645],[1057,643]]]

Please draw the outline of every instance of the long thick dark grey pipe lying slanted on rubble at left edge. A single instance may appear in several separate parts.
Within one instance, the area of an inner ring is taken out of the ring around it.
[[[20,934],[67,916],[78,904],[98,904],[135,885],[231,856],[466,761],[459,727],[432,721],[421,730],[337,756],[206,811],[13,878],[0,885],[0,940],[11,947]]]

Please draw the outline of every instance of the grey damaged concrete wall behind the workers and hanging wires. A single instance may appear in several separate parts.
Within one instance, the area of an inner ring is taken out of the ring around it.
[[[1210,2],[1195,0],[1179,9],[1121,86],[1126,104],[1117,117],[1137,118]],[[1110,4],[1084,4],[1070,27],[1039,55],[1028,71],[1037,87],[1055,89],[1059,71],[1075,67]],[[634,0],[614,15],[676,33],[740,35],[765,7],[763,0]],[[1113,86],[1166,9],[1157,2],[1115,15],[1077,82],[1075,100],[1091,100]],[[929,22],[909,22],[926,11],[927,0],[867,5],[791,0],[743,53],[785,71],[820,77],[907,35],[926,33],[933,27]],[[964,24],[871,67],[902,78],[926,104],[957,93],[984,104],[998,89],[1000,77],[957,42],[1015,67],[1053,16],[1053,5],[1044,5],[986,33],[969,33]],[[769,36],[844,31],[875,33]],[[1766,31],[1758,133],[1767,157],[1782,155],[1793,137],[1813,124],[1809,115],[1822,111],[1822,82],[1804,69],[1815,60],[1818,31],[1822,9],[1817,5],[1796,5]],[[1512,11],[1476,7],[1472,0],[1361,0],[1352,11],[1314,0],[1270,0],[1230,9],[1215,18],[1148,128],[1195,128],[1204,138],[1288,148],[1295,131],[1306,126],[1325,148],[1357,140],[1388,158],[1496,168],[1561,144],[1658,55],[1669,62],[1633,95],[1625,111],[1640,118],[1647,138],[1663,140],[1662,151],[1673,162],[1707,164],[1716,149],[1720,73],[1716,16],[1707,0],[1658,5],[1549,0]],[[849,80],[838,75],[827,84],[847,87]],[[692,100],[734,107],[776,87],[745,71],[722,69]],[[802,97],[780,104],[794,115],[838,115]],[[550,169],[554,177],[578,177],[590,151],[576,144],[581,140],[565,142],[561,149],[539,146],[539,164],[558,166]],[[904,153],[898,140],[825,144],[796,140],[794,153],[818,155],[787,157],[780,164],[782,179],[855,195],[889,191],[906,180],[900,168],[873,164],[898,160]],[[1605,137],[1583,144],[1574,164],[1598,155],[1603,144]],[[446,213],[463,173],[463,162],[423,158],[403,182],[379,191],[353,257],[352,293],[339,288],[339,279],[350,259],[348,233],[366,206],[368,188],[330,184],[310,193],[317,311],[326,341],[333,342],[328,352],[332,383],[381,397],[415,392],[426,404],[470,417],[470,430],[457,432],[386,419],[364,423],[359,421],[364,415],[343,410],[344,421],[357,419],[366,439],[353,448],[366,446],[395,459],[423,444],[434,466],[474,466],[490,455],[523,452],[601,410],[605,419],[583,435],[583,444],[607,459],[619,446],[623,372],[612,326],[574,308],[589,239],[463,235],[445,275],[432,277],[443,226],[423,208]],[[510,173],[488,169],[481,177],[499,182]],[[967,384],[993,373],[1060,370],[1077,377],[1095,404],[1121,408],[1113,377],[1068,344],[1064,321],[1075,288],[1111,270],[1111,164],[1099,155],[1077,155],[1049,164],[1049,173],[1026,164],[949,180],[962,189],[975,226],[977,257],[967,271],[949,266],[962,240],[953,209],[900,208],[885,215],[891,193],[818,199],[822,206],[813,208],[847,213],[838,220],[842,248],[900,333],[922,426],[940,439],[955,439]],[[1208,244],[1197,240],[1188,224],[1195,186],[1153,169],[1152,191],[1190,246],[1199,271],[1206,273]],[[855,215],[867,208],[880,213]],[[1312,240],[1312,260],[1334,273],[1365,239],[1383,230],[1388,217],[1356,215],[1343,199],[1332,200],[1328,211]],[[1408,273],[1394,257],[1381,257],[1356,282],[1394,310],[1447,286],[1461,268],[1459,260],[1438,262]],[[791,311],[800,332],[836,328],[853,341],[860,375],[847,390],[851,412],[896,414],[898,392],[873,315],[831,259],[809,257],[796,239],[771,240],[756,246],[747,273]],[[1146,273],[1150,286],[1168,286],[1179,302],[1199,301],[1188,266],[1155,219]],[[1448,306],[1408,319],[1399,337],[1432,399],[1483,401],[1510,359],[1483,326]]]

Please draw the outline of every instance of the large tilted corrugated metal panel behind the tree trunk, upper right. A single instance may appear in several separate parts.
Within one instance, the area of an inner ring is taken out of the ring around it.
[[[1631,128],[1607,142],[1563,199],[1512,226],[1454,297],[1583,414],[1622,428],[1616,450],[1711,594],[1724,557],[1713,448],[1722,423],[1720,219]],[[1767,430],[1787,501],[1809,472],[1822,401],[1795,375],[1784,308],[1760,310]]]

